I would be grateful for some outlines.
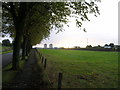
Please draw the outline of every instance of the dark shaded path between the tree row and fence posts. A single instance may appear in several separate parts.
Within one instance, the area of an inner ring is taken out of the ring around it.
[[[8,86],[12,88],[45,88],[43,69],[39,64],[35,50],[32,50],[23,70],[19,71],[15,79]],[[7,86],[7,87],[8,87]]]

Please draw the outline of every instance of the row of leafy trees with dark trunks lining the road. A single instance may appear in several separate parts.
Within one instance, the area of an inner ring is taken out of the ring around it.
[[[98,1],[81,2],[3,2],[2,33],[10,34],[14,39],[12,69],[19,68],[20,48],[22,58],[29,54],[33,45],[47,38],[50,31],[57,28],[62,31],[68,16],[76,18],[77,27],[83,21],[90,21],[88,15],[97,16]],[[83,29],[85,31],[85,29]]]

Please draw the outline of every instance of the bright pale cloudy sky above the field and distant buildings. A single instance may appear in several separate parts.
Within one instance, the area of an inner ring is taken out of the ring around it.
[[[70,18],[69,25],[64,25],[65,31],[56,34],[52,30],[49,39],[43,40],[36,47],[43,47],[44,44],[53,44],[54,47],[86,47],[86,45],[97,46],[109,43],[118,44],[118,1],[101,0],[99,3],[100,15],[90,16],[90,22],[84,22],[83,27],[87,32],[76,27],[74,18]]]

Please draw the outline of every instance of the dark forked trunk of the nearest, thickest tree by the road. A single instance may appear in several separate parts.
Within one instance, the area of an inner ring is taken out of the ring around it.
[[[16,8],[14,4],[10,3],[10,12],[13,17],[13,22],[16,30],[16,37],[14,41],[13,48],[13,60],[12,60],[12,69],[17,70],[19,68],[19,59],[20,59],[20,48],[21,48],[21,40],[24,34],[24,25],[26,19],[26,3],[20,3],[20,7],[18,10],[18,15],[16,14]]]

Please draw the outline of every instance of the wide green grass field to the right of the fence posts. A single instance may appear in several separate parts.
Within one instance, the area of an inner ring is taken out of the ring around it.
[[[118,53],[81,50],[41,49],[47,58],[46,72],[57,87],[58,73],[63,73],[63,88],[116,88]]]

